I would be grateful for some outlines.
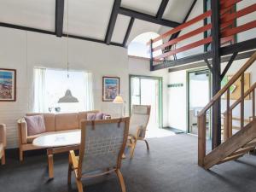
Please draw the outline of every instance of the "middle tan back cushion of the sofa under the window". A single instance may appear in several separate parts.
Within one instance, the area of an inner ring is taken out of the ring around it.
[[[55,131],[79,129],[79,113],[55,114]]]

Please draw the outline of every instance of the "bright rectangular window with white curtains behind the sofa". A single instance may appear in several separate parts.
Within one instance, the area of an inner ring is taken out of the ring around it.
[[[71,90],[79,102],[58,103]],[[78,112],[93,109],[92,77],[84,71],[34,69],[34,111],[40,113]]]

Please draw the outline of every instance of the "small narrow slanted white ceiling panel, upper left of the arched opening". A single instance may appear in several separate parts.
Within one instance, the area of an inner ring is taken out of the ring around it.
[[[111,41],[115,43],[122,44],[125,38],[125,33],[129,26],[130,17],[124,15],[118,15],[116,20],[114,29],[113,29],[113,36]]]

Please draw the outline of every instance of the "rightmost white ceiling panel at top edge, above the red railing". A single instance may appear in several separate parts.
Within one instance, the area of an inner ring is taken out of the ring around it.
[[[163,19],[182,23],[194,0],[170,0]]]

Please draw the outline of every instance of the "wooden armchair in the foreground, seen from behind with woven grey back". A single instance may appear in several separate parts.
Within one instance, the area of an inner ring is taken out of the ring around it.
[[[120,167],[128,129],[129,118],[83,120],[79,156],[75,156],[73,151],[69,153],[68,183],[71,183],[71,173],[74,172],[79,192],[83,192],[83,178],[115,172],[119,177],[122,192],[125,192]]]

